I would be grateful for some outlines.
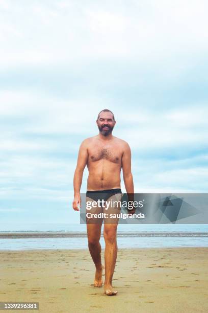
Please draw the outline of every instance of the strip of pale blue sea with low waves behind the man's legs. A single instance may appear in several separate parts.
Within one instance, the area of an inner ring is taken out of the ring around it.
[[[103,226],[100,238],[105,248]],[[118,249],[208,247],[207,224],[118,225]],[[0,250],[88,249],[86,225],[66,223],[0,224]]]

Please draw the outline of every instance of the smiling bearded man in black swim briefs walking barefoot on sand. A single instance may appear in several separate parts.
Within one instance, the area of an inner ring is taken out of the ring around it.
[[[123,180],[126,193],[134,194],[134,183],[131,172],[131,150],[128,144],[112,135],[116,124],[114,114],[109,109],[100,111],[97,117],[99,133],[97,136],[85,139],[79,150],[77,166],[74,173],[74,200],[73,209],[80,211],[81,206],[80,188],[82,184],[83,171],[87,165],[89,176],[87,181],[86,199],[98,200],[100,197],[105,200],[121,200],[120,172],[123,170]],[[116,208],[118,211],[120,208]],[[94,212],[102,212],[103,208],[98,206]],[[115,208],[109,207],[108,213],[114,212]],[[116,211],[116,213],[117,213]],[[134,213],[133,211],[131,213]],[[116,232],[118,218],[113,222],[104,219],[103,236],[105,238],[105,293],[109,296],[116,295],[113,290],[112,278],[117,258]],[[87,221],[88,247],[94,261],[96,271],[94,286],[102,286],[101,247],[99,243],[101,234],[101,222]]]

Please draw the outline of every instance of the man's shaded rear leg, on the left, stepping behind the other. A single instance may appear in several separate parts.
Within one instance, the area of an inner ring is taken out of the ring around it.
[[[87,199],[88,201],[92,199]],[[102,212],[102,208],[93,208],[90,211],[93,214],[98,214]],[[94,223],[93,223],[94,222]],[[88,248],[93,259],[93,262],[96,267],[95,278],[94,278],[94,286],[101,287],[102,286],[102,270],[104,266],[101,263],[101,245],[99,243],[100,235],[101,235],[101,227],[102,227],[102,219],[98,221],[87,219],[87,237],[88,237]]]

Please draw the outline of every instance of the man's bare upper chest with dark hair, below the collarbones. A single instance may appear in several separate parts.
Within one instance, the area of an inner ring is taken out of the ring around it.
[[[113,163],[120,163],[122,151],[113,147],[91,148],[89,149],[88,162],[96,162],[99,160],[108,160]]]

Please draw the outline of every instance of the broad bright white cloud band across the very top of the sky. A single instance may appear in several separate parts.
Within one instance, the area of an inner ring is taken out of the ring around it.
[[[3,3],[2,66],[103,58],[162,67],[206,56],[207,2]],[[5,13],[6,12],[6,13]],[[5,15],[5,16],[4,16]],[[18,16],[18,18],[17,18]],[[15,53],[13,51],[15,50]],[[190,53],[191,52],[191,53]],[[164,65],[163,65],[164,64]],[[177,69],[179,66],[177,65]],[[163,69],[165,70],[165,68]]]

